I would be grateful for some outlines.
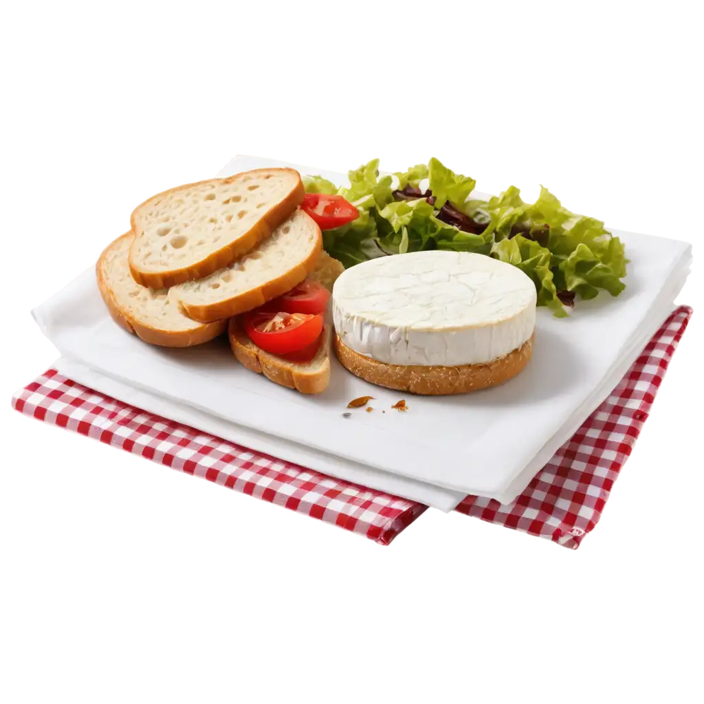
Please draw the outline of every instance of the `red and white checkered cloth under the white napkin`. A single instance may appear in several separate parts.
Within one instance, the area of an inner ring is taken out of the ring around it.
[[[622,382],[511,504],[467,496],[471,520],[578,546],[603,512],[648,420],[692,310],[681,306]],[[252,452],[145,413],[45,370],[13,394],[30,419],[120,448],[137,458],[254,496],[379,543],[389,543],[427,507]]]

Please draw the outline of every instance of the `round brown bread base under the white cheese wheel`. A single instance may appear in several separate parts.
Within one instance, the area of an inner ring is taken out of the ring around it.
[[[461,367],[406,366],[377,362],[351,350],[337,335],[333,346],[341,365],[365,382],[419,396],[449,396],[479,391],[513,379],[529,363],[534,337],[535,333],[522,346],[493,362]]]

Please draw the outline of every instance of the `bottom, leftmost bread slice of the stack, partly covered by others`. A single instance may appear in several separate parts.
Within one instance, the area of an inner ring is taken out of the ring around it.
[[[132,232],[122,234],[96,263],[98,288],[113,320],[145,342],[162,347],[191,347],[225,332],[225,321],[203,325],[191,320],[169,301],[165,289],[148,289],[134,281],[128,264],[133,239]]]

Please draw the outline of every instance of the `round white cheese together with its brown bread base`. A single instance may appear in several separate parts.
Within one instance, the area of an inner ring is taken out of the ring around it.
[[[334,284],[334,348],[372,384],[463,394],[517,375],[532,356],[536,289],[482,254],[422,251],[373,259]]]

